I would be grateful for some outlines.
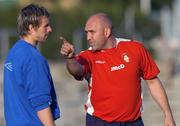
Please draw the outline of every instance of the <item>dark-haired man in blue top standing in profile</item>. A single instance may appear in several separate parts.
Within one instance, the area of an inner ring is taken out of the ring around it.
[[[7,126],[55,126],[60,117],[49,65],[36,46],[52,32],[49,13],[30,4],[17,18],[20,39],[4,63],[4,113]]]

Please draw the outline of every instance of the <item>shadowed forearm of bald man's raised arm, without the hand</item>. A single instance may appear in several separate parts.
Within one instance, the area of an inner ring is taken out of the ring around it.
[[[84,75],[84,66],[79,64],[74,58],[66,59],[66,65],[71,75],[75,77]]]

